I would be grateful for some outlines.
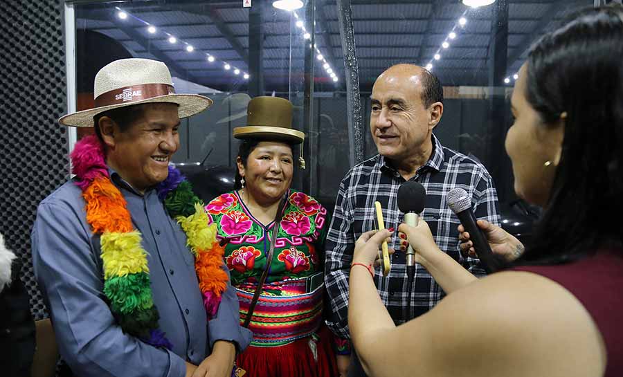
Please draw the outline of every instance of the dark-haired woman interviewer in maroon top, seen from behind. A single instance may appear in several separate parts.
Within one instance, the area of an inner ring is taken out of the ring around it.
[[[505,146],[517,194],[545,213],[505,272],[476,279],[440,251],[425,221],[402,224],[448,296],[395,327],[361,266],[390,232],[359,238],[348,319],[371,376],[623,375],[622,56],[622,10],[605,7],[545,35],[521,67]],[[521,245],[481,225],[498,252]]]

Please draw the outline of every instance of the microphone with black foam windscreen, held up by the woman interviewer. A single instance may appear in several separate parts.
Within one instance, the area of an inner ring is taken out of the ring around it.
[[[407,181],[398,187],[398,209],[404,212],[404,223],[408,226],[417,226],[419,214],[424,210],[426,190],[422,183]],[[413,282],[415,276],[415,251],[409,245],[406,251],[406,265],[408,282]]]

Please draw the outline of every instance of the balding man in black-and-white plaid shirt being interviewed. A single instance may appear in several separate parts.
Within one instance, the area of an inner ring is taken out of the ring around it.
[[[372,87],[370,132],[379,154],[347,172],[338,191],[334,217],[326,241],[325,282],[332,318],[329,329],[340,338],[350,339],[347,325],[348,275],[356,239],[374,229],[374,201],[383,208],[386,228],[397,229],[404,220],[398,210],[397,192],[401,183],[417,181],[426,188],[422,217],[431,227],[437,245],[474,275],[485,275],[478,259],[460,253],[457,227],[459,219],[446,204],[446,193],[462,187],[471,194],[473,212],[478,219],[500,223],[498,196],[485,167],[464,154],[444,147],[433,134],[444,113],[442,86],[430,71],[412,64],[398,64],[377,77]],[[389,244],[401,250],[395,233]],[[444,292],[422,266],[417,265],[412,298],[404,252],[392,258],[388,277],[377,270],[381,300],[396,324],[426,313]],[[350,347],[338,347],[338,367],[345,374]],[[356,369],[356,370],[354,370]],[[350,368],[349,376],[363,370]]]

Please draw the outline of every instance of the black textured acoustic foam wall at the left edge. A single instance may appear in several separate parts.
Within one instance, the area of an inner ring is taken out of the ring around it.
[[[21,259],[35,320],[46,318],[30,255],[37,204],[69,173],[62,2],[2,0],[0,6],[0,232]]]

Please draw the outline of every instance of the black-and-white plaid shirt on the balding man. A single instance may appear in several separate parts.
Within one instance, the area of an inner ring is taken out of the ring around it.
[[[494,183],[482,164],[443,147],[434,135],[432,138],[434,149],[431,158],[410,179],[422,183],[426,188],[422,219],[430,226],[441,250],[474,275],[485,275],[478,259],[464,259],[460,255],[457,230],[460,221],[448,207],[446,194],[454,187],[462,187],[471,195],[476,217],[500,225]],[[341,338],[350,339],[347,324],[348,275],[355,240],[363,232],[374,229],[374,201],[381,203],[385,227],[398,228],[404,220],[404,213],[398,210],[397,193],[398,187],[404,182],[397,170],[388,165],[383,156],[377,155],[350,169],[340,184],[334,217],[325,243],[325,283],[332,309],[327,326]],[[388,246],[399,250],[397,234],[394,233]],[[383,277],[379,268],[374,282],[394,322],[400,324],[432,309],[442,299],[444,292],[428,271],[416,264],[412,301],[408,303],[405,253],[396,252],[391,259],[390,274]],[[408,318],[404,318],[403,307],[407,305],[411,311]]]

